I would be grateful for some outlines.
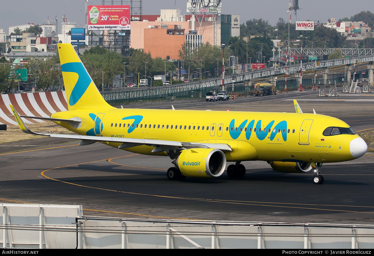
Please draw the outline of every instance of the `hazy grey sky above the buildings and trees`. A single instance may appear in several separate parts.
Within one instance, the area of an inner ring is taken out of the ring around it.
[[[115,0],[116,1],[116,0]],[[120,1],[117,1],[120,3]],[[101,0],[89,0],[89,5],[100,5]],[[105,1],[111,3],[111,1]],[[125,1],[123,1],[126,4]],[[128,2],[129,3],[129,2]],[[187,0],[143,0],[143,14],[160,15],[160,9],[181,9],[186,14]],[[222,0],[222,13],[239,14],[240,23],[249,19],[268,20],[275,25],[279,17],[286,21],[289,0]],[[115,3],[116,4],[116,3]],[[85,25],[85,0],[0,0],[0,28],[8,33],[9,26],[24,25],[28,22],[41,24],[43,20],[62,18],[64,14],[77,27]],[[298,21],[314,20],[326,22],[328,18],[337,20],[350,17],[363,10],[374,13],[373,0],[299,0],[301,10],[297,11]],[[294,22],[292,11],[292,22]],[[59,21],[61,23],[61,21]]]

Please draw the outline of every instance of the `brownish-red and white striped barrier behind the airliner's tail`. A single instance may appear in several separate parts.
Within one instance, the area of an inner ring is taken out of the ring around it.
[[[19,115],[49,117],[53,113],[68,110],[65,92],[34,92],[2,94],[0,97],[0,124],[17,125],[10,110],[13,105]],[[26,124],[45,122],[39,119],[24,119]]]

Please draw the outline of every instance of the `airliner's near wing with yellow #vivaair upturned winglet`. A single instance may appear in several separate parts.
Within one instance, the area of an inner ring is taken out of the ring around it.
[[[27,125],[22,121],[21,116],[18,115],[16,110],[12,105],[9,105],[12,109],[13,115],[16,118],[19,128],[21,131],[33,134],[33,135],[45,135],[54,138],[70,138],[75,140],[82,140],[80,145],[89,145],[99,141],[122,143],[118,148],[129,148],[141,145],[147,145],[156,147],[152,152],[163,152],[170,149],[181,149],[181,148],[196,148],[196,147],[205,147],[205,148],[215,148],[222,150],[224,152],[231,152],[231,147],[228,144],[221,143],[191,143],[191,142],[180,142],[172,140],[149,140],[149,139],[139,139],[139,138],[120,138],[120,137],[102,137],[102,136],[90,136],[90,135],[74,135],[74,134],[49,134],[49,133],[37,133],[31,131]],[[32,117],[31,117],[32,118]]]

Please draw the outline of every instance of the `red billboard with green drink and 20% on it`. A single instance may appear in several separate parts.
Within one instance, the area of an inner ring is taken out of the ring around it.
[[[88,30],[129,30],[129,5],[89,5]]]

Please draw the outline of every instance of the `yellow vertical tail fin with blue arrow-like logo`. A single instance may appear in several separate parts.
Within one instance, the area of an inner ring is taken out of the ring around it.
[[[68,109],[113,108],[101,96],[73,46],[69,43],[58,43],[57,47]]]

